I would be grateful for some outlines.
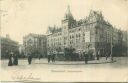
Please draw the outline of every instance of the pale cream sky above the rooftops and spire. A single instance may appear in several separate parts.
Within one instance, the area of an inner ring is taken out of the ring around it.
[[[68,5],[76,20],[98,10],[113,26],[128,30],[128,0],[0,0],[1,36],[22,43],[29,33],[46,34],[48,26],[61,26]]]

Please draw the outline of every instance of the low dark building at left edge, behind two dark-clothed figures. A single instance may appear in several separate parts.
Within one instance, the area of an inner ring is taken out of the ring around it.
[[[11,40],[9,35],[1,37],[1,58],[8,58],[9,54],[13,52],[19,55],[19,44],[18,42]]]

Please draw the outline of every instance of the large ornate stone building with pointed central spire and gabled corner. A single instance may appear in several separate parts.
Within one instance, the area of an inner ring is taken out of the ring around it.
[[[90,11],[85,19],[76,21],[68,7],[61,27],[48,27],[47,53],[64,52],[73,48],[76,53],[92,50],[95,55],[112,53],[111,48],[122,43],[122,33],[107,22],[100,11]]]

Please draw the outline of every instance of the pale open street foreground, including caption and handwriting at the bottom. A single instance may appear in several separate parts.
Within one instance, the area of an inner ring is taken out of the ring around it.
[[[84,61],[47,63],[47,59],[33,59],[31,65],[27,59],[20,59],[18,66],[7,64],[8,60],[1,60],[0,78],[3,81],[128,81],[128,57],[114,58],[113,63],[101,58],[100,61],[89,61],[89,64]]]

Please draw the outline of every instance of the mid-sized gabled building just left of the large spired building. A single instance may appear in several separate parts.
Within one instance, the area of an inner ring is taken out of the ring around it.
[[[46,35],[39,35],[30,33],[23,37],[23,46],[25,49],[25,55],[32,54],[34,57],[39,55],[45,57],[47,54],[47,42]]]

